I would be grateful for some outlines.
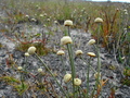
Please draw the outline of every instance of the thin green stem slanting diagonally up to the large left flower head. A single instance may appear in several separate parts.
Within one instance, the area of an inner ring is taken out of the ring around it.
[[[68,98],[68,96],[66,95],[66,93],[64,91],[63,87],[60,85],[60,83],[57,82],[57,79],[55,78],[55,76],[53,75],[53,73],[50,71],[50,69],[47,66],[47,64],[38,57],[37,53],[35,53],[35,56],[39,59],[39,61],[42,63],[42,65],[49,71],[49,73],[52,75],[52,77],[54,78],[54,81],[56,82],[56,84],[60,86],[61,90],[64,93],[64,95],[66,96],[66,98]]]

